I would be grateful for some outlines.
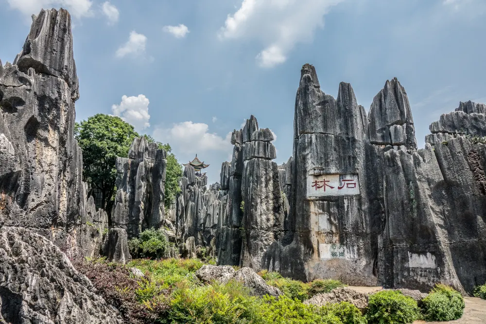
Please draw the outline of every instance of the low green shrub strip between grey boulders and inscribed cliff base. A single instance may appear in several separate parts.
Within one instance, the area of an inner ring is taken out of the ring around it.
[[[345,286],[341,281],[333,279],[318,279],[310,283],[303,283],[302,281],[284,278],[277,272],[263,270],[259,274],[270,286],[277,287],[290,298],[300,301],[312,298],[316,294],[330,292],[335,288]]]

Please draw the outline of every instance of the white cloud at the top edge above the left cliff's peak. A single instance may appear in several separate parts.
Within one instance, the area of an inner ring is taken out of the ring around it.
[[[63,7],[76,18],[91,16],[90,0],[7,0],[12,9],[17,9],[26,16],[37,15],[42,8]]]

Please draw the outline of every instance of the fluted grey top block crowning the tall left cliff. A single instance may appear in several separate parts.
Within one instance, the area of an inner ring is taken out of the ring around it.
[[[14,65],[24,73],[34,68],[37,73],[64,79],[71,87],[72,99],[77,100],[79,85],[72,52],[69,12],[65,9],[42,9],[32,19],[30,33]]]

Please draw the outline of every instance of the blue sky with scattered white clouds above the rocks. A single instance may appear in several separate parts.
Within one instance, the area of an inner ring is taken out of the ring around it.
[[[459,101],[486,102],[485,0],[0,0],[0,59],[12,62],[41,7],[73,16],[76,120],[119,114],[195,153],[219,180],[227,137],[255,115],[292,154],[300,68],[353,86],[366,111],[387,79],[405,87],[417,142]]]

